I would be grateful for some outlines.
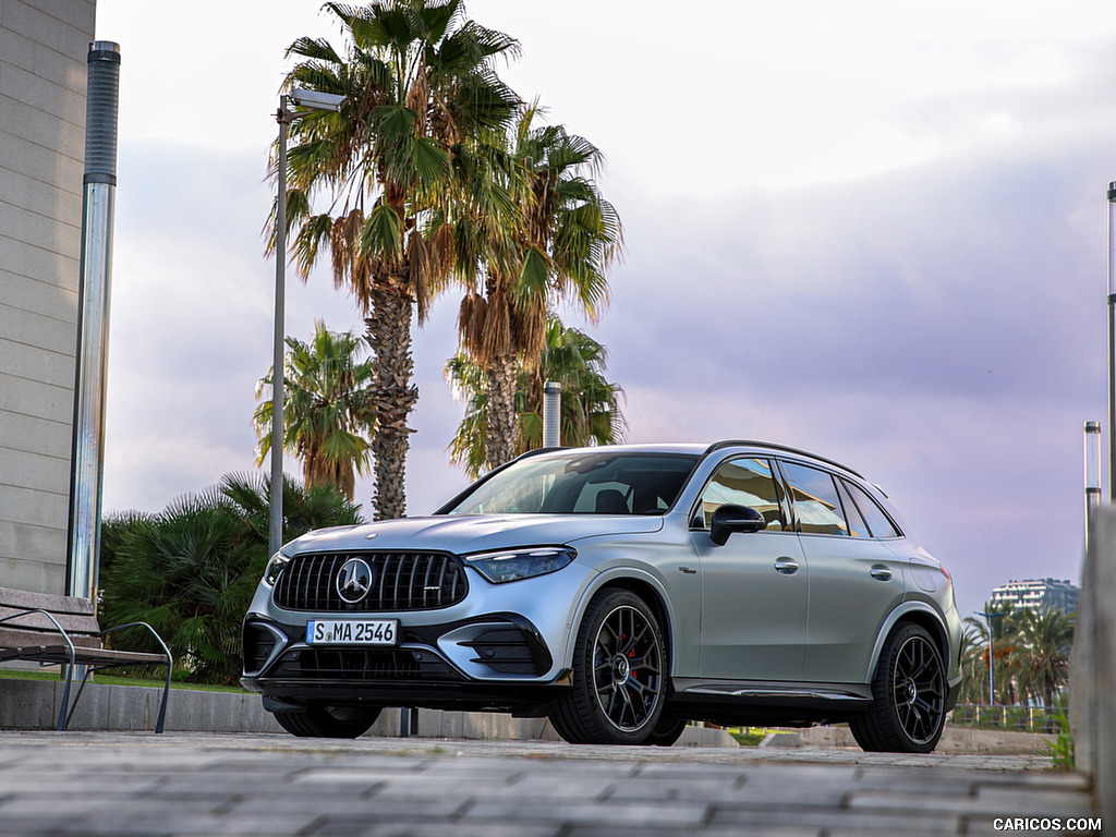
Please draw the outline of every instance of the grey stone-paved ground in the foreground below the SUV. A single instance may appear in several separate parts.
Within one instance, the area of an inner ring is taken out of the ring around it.
[[[7,731],[0,835],[1103,834],[1085,779],[1048,764],[836,749]]]

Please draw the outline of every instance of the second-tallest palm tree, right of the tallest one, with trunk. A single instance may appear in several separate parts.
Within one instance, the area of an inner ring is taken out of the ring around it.
[[[537,104],[522,110],[503,155],[514,227],[477,222],[480,243],[468,252],[480,270],[458,318],[461,345],[484,374],[489,468],[514,456],[517,371],[539,365],[552,305],[573,299],[595,318],[623,242],[619,217],[594,182],[600,151],[560,125],[537,127],[538,114]],[[487,205],[506,209],[498,199]]]

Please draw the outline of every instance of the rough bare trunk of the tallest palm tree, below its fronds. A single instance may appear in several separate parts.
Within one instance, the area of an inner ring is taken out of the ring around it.
[[[378,283],[377,283],[378,285]],[[374,355],[373,401],[376,427],[372,437],[375,458],[376,520],[406,514],[407,450],[411,446],[407,419],[419,401],[411,357],[411,315],[414,302],[404,290],[376,287],[372,291],[372,316],[365,319],[368,345]]]

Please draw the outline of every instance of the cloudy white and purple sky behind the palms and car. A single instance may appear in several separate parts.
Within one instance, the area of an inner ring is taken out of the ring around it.
[[[157,510],[252,468],[283,49],[339,35],[317,0],[97,6],[123,57],[104,501]],[[849,463],[951,568],[963,613],[1009,579],[1077,579],[1081,427],[1106,411],[1116,7],[468,9],[521,41],[512,87],[607,154],[627,250],[590,330],[629,441]],[[445,453],[456,302],[415,334],[411,514],[465,483]],[[363,330],[327,268],[288,289],[288,334],[316,318]]]

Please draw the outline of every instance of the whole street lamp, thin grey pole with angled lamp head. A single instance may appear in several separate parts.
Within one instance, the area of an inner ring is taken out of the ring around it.
[[[292,104],[296,110],[288,108]],[[268,546],[271,555],[282,546],[282,446],[283,446],[283,343],[287,295],[287,128],[314,110],[341,109],[344,96],[295,89],[279,97],[276,122],[279,123],[278,205],[276,206],[276,314],[275,345],[271,357],[271,521]]]

